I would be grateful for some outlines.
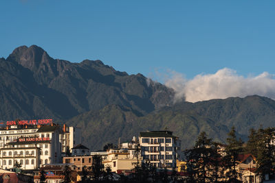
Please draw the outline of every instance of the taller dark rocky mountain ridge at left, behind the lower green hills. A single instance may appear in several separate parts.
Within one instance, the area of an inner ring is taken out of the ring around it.
[[[18,47],[0,60],[0,120],[53,117],[64,120],[109,104],[148,114],[170,106],[172,89],[141,74],[115,71],[100,60],[72,63],[41,47]]]

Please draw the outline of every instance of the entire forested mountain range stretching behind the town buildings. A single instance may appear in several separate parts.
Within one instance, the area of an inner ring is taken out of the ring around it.
[[[0,58],[0,120],[52,118],[74,125],[92,150],[146,130],[171,130],[184,149],[202,131],[225,142],[234,125],[245,141],[251,127],[275,126],[275,101],[266,97],[173,103],[174,96],[172,88],[140,73],[115,71],[100,60],[54,59],[36,45]]]

